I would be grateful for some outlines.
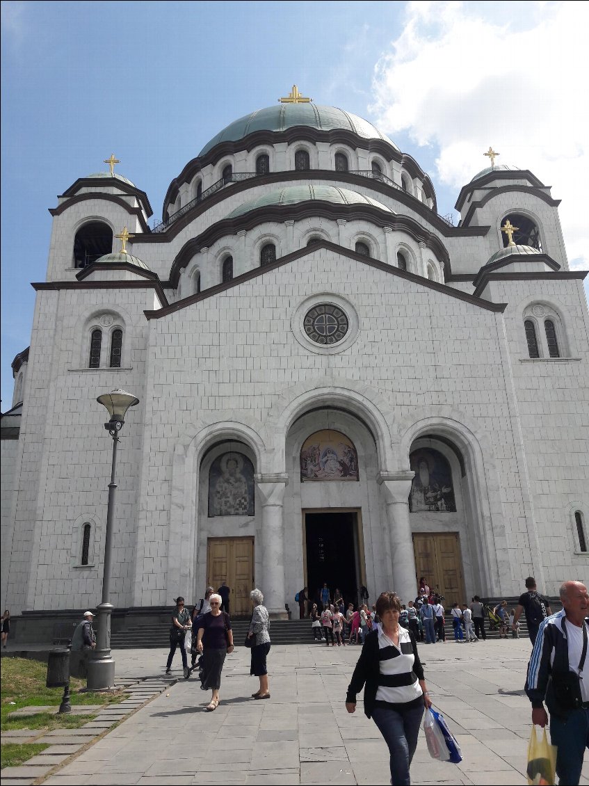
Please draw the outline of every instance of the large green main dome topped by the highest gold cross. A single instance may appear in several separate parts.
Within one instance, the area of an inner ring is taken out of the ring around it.
[[[344,112],[343,109],[320,104],[277,104],[258,109],[229,123],[229,126],[219,131],[217,136],[203,147],[199,156],[204,156],[221,142],[238,141],[247,137],[247,134],[253,134],[254,131],[284,131],[295,126],[306,126],[320,131],[343,128],[365,139],[382,139],[398,150],[397,145],[381,134],[372,123],[368,123],[368,120]]]

